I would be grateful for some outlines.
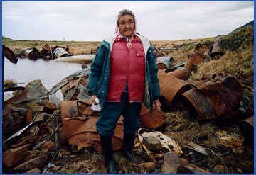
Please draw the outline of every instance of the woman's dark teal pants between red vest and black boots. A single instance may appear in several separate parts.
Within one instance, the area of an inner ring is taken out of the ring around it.
[[[140,127],[139,114],[142,102],[129,103],[127,92],[123,92],[121,102],[106,102],[102,108],[96,128],[102,136],[114,135],[114,129],[120,116],[123,115],[124,133],[133,134]]]

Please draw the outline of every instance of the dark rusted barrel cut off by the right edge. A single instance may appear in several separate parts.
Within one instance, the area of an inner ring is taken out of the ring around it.
[[[245,145],[254,149],[254,116],[240,121],[240,130],[245,137]]]

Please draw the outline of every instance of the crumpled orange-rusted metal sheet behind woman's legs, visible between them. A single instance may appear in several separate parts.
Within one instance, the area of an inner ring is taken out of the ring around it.
[[[70,145],[78,147],[78,150],[85,147],[94,147],[99,153],[102,153],[100,146],[100,135],[96,129],[97,116],[90,118],[63,118],[62,139],[68,140]],[[123,125],[122,117],[119,118],[117,126],[112,137],[113,150],[122,147]]]

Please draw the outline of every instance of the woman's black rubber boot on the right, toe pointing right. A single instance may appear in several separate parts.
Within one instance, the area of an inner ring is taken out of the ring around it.
[[[133,163],[139,163],[139,160],[137,160],[134,157],[134,154],[132,153],[132,149],[134,148],[134,139],[135,139],[135,134],[125,134],[124,133],[124,139],[122,143],[122,154],[124,157],[129,159],[130,162]]]

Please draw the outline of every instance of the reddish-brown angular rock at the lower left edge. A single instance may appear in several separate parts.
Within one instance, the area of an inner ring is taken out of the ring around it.
[[[16,165],[28,154],[28,147],[30,145],[23,145],[14,149],[9,149],[3,152],[3,164],[4,166],[10,167]]]

